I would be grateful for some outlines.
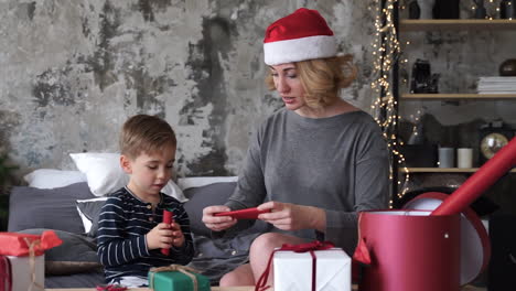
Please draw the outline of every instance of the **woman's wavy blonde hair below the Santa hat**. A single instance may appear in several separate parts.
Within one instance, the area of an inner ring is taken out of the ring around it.
[[[311,108],[321,108],[338,98],[338,90],[347,88],[356,77],[350,54],[295,62],[295,69],[304,89],[304,100]],[[266,77],[270,90],[276,90],[271,72]]]

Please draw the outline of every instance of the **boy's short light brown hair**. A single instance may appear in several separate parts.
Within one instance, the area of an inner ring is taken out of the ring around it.
[[[176,144],[172,127],[155,116],[133,116],[123,123],[120,132],[120,153],[130,159],[136,159],[142,152],[150,154],[168,147],[175,148]]]

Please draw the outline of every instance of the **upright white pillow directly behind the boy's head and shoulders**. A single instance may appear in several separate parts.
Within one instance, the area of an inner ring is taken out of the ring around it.
[[[110,194],[129,183],[129,175],[120,166],[120,154],[108,152],[71,153],[77,169],[86,175],[88,186],[95,196]],[[186,202],[181,188],[171,180],[161,190],[164,194]]]

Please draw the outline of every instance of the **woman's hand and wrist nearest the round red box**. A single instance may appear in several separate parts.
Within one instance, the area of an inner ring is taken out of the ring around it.
[[[270,209],[270,213],[258,215],[258,219],[282,230],[318,229],[325,233],[326,229],[326,213],[318,207],[269,201],[258,209]]]

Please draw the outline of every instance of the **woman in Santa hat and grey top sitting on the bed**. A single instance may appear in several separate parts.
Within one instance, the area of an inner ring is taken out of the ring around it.
[[[221,285],[255,284],[282,244],[324,239],[352,255],[357,212],[387,207],[386,142],[369,115],[338,96],[356,72],[350,55],[337,56],[325,20],[298,9],[269,25],[264,42],[266,82],[284,108],[259,127],[235,193],[226,205],[206,207],[203,222],[214,231],[239,231],[248,220],[214,214],[258,206],[270,211],[258,216],[270,231]]]

